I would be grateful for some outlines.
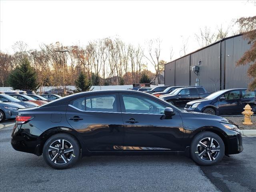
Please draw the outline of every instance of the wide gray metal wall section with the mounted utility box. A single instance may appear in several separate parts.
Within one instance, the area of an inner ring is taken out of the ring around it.
[[[191,66],[198,66],[199,61],[198,75],[190,71],[190,84],[195,85],[199,78],[199,84],[208,92],[220,90],[220,43],[191,54]]]

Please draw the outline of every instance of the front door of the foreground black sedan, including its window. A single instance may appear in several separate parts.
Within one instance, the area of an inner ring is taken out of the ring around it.
[[[124,121],[124,151],[184,150],[183,125],[178,112],[171,118],[163,118],[166,106],[136,94],[120,94],[120,103]]]

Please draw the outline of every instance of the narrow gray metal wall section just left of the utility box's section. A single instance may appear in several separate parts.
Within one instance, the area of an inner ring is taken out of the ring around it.
[[[175,61],[175,85],[190,84],[190,56],[185,56]]]

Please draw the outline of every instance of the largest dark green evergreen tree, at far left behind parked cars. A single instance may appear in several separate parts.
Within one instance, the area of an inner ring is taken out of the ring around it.
[[[21,63],[13,70],[8,77],[8,82],[13,89],[33,90],[39,88],[37,74],[33,67],[30,66],[28,58],[23,58]]]

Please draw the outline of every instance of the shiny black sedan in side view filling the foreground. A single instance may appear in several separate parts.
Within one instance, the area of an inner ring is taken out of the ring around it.
[[[225,118],[182,111],[144,92],[82,92],[18,110],[15,150],[43,154],[64,169],[80,156],[185,152],[200,165],[242,152],[238,126]]]

